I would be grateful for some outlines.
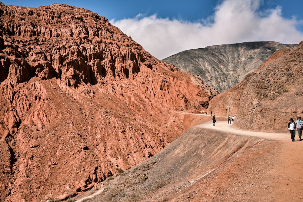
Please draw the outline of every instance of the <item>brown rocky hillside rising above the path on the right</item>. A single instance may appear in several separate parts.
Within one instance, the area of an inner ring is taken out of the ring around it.
[[[211,100],[218,116],[237,114],[233,125],[245,130],[287,131],[290,118],[302,117],[303,42],[276,51],[256,72]]]

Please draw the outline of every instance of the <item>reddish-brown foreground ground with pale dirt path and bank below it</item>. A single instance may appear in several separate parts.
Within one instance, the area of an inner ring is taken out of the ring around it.
[[[77,202],[303,201],[298,136],[292,142],[288,133],[242,131],[227,121],[215,125],[191,127],[151,159],[85,193],[98,192],[94,197],[82,195]]]

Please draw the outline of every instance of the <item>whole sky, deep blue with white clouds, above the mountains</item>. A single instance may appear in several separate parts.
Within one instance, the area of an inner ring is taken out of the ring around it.
[[[302,0],[0,0],[38,7],[86,8],[108,18],[158,59],[210,45],[247,41],[303,41]]]

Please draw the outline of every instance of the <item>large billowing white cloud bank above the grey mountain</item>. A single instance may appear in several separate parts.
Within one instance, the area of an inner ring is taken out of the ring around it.
[[[298,44],[303,33],[296,29],[300,21],[284,19],[281,7],[260,11],[260,0],[225,0],[213,16],[192,23],[181,20],[142,16],[112,20],[126,35],[158,59],[181,51],[210,45],[247,41],[277,41]]]

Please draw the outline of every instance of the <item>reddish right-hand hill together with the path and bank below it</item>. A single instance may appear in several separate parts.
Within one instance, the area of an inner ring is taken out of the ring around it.
[[[211,116],[187,114],[194,127],[83,201],[300,201],[302,141],[291,141],[287,123],[303,113],[302,76],[303,41],[215,96],[208,111],[226,117],[216,127],[201,124]],[[228,113],[237,115],[232,125]]]

